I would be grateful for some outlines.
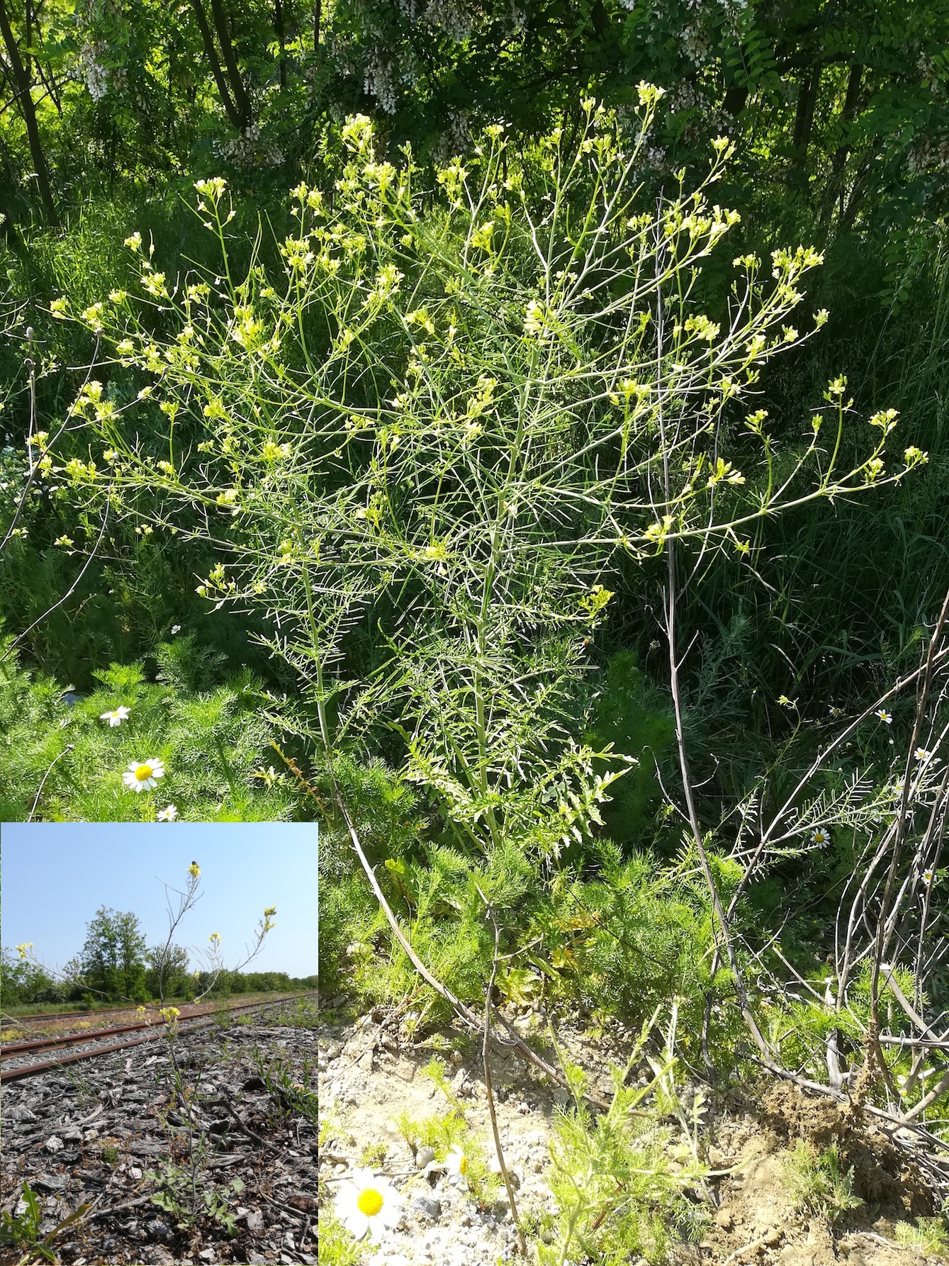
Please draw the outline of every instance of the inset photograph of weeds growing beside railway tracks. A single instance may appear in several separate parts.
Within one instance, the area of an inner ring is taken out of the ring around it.
[[[316,1261],[316,827],[15,823],[0,1261]]]

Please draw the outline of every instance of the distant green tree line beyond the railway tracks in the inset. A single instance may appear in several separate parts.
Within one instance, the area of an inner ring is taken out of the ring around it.
[[[191,967],[183,946],[148,946],[138,917],[100,906],[86,924],[86,939],[62,974],[53,977],[43,967],[22,960],[11,950],[0,951],[3,1005],[35,1003],[151,1001],[185,999],[210,989],[210,998],[248,993],[286,993],[315,989],[316,976],[295,977],[285,971],[210,972]]]

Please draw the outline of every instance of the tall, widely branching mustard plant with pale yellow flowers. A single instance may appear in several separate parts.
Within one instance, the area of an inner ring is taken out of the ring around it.
[[[86,509],[214,543],[199,592],[266,614],[326,744],[396,732],[476,853],[555,858],[599,820],[617,765],[577,742],[569,696],[624,558],[672,539],[747,552],[782,508],[925,461],[884,466],[890,410],[838,468],[843,377],[785,449],[747,411],[762,366],[810,337],[792,319],[820,256],[739,256],[726,315],[698,310],[738,222],[712,201],[733,146],[695,191],[679,173],[643,206],[659,96],[640,85],[631,148],[590,100],[574,146],[558,128],[516,154],[488,127],[434,187],[410,149],[381,161],[358,115],[333,190],[292,191],[282,266],[261,239],[237,275],[230,195],[202,180],[216,272],[168,276],[135,232],[128,289],[53,303],[114,362],[72,405],[87,457],[57,466],[40,433],[40,472]],[[385,648],[368,665],[361,630]]]

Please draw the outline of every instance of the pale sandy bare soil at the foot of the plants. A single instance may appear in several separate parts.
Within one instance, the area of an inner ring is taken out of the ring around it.
[[[402,1214],[378,1243],[364,1243],[368,1266],[496,1266],[516,1261],[515,1232],[504,1195],[478,1205],[453,1184],[444,1165],[409,1146],[399,1127],[444,1114],[444,1093],[424,1072],[442,1042],[450,1093],[486,1157],[493,1156],[480,1052],[467,1051],[459,1032],[445,1029],[428,1044],[412,1046],[399,1032],[397,1017],[382,1009],[352,1019],[329,1006],[320,1013],[319,1103],[323,1146],[319,1155],[324,1208],[335,1203],[357,1169],[386,1177],[402,1199]],[[543,1015],[520,1015],[515,1027],[540,1033]],[[625,1065],[633,1034],[614,1025],[592,1036],[582,1024],[564,1023],[558,1039],[571,1058],[592,1074],[592,1087],[610,1096],[610,1062]],[[550,1163],[553,1114],[566,1091],[545,1082],[510,1052],[492,1058],[492,1080],[505,1161],[512,1172],[518,1209],[534,1228],[553,1212],[545,1184]],[[935,1212],[933,1193],[906,1153],[890,1143],[872,1118],[840,1115],[828,1100],[802,1095],[787,1084],[733,1087],[709,1100],[705,1119],[707,1162],[719,1171],[707,1186],[707,1229],[700,1243],[677,1243],[669,1266],[922,1266],[924,1255],[897,1243],[901,1222]],[[830,1227],[795,1205],[786,1157],[797,1139],[825,1147],[838,1137],[855,1163],[864,1203]],[[930,1256],[929,1266],[946,1256]],[[645,1266],[645,1261],[630,1262]]]

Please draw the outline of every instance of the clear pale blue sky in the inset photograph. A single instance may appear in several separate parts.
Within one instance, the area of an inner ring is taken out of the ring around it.
[[[306,823],[11,823],[0,827],[0,939],[32,941],[47,966],[77,953],[100,905],[133,910],[148,944],[168,936],[164,884],[204,894],[175,939],[194,952],[211,932],[226,967],[245,957],[267,905],[276,927],[247,971],[316,972],[316,827]],[[170,894],[175,910],[178,899]]]

